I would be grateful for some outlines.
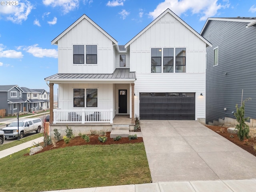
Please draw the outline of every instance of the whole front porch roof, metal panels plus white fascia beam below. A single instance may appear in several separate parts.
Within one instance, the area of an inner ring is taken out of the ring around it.
[[[52,83],[68,83],[68,82],[91,82],[91,83],[133,83],[136,80],[135,72],[130,69],[116,69],[112,74],[55,74],[45,78],[46,81]]]

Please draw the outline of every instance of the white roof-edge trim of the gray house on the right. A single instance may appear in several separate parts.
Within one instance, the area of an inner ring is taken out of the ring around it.
[[[200,34],[204,31],[204,28],[206,28],[209,21],[215,20],[215,21],[231,21],[231,22],[246,22],[249,23],[246,25],[246,27],[250,27],[256,24],[256,17],[223,17],[223,18],[208,18],[204,24],[204,27],[202,28]]]

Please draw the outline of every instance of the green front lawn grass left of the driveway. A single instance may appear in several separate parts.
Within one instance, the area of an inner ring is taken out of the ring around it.
[[[0,191],[48,191],[151,181],[144,143],[84,145],[0,159]]]

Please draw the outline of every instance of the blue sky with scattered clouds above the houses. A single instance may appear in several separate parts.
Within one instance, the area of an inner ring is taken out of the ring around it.
[[[10,4],[11,2],[11,4]],[[58,73],[51,41],[86,14],[124,45],[170,8],[198,33],[208,17],[256,16],[254,0],[0,0],[0,85],[49,88]],[[54,86],[54,95],[57,86]]]

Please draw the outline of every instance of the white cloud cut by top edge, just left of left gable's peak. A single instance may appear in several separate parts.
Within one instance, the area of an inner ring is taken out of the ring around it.
[[[79,7],[79,0],[43,0],[43,4],[52,7],[61,7],[64,14]]]

